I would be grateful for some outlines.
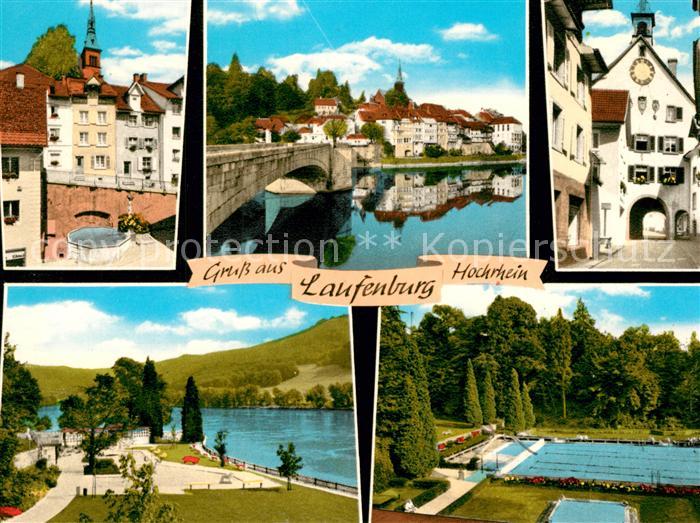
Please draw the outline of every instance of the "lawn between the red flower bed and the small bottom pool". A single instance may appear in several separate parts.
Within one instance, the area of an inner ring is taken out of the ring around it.
[[[638,512],[644,523],[666,523],[669,521],[700,521],[700,500],[643,494],[608,494],[565,490],[555,487],[529,485],[504,485],[489,480],[473,494],[466,494],[467,501],[449,513],[456,517],[482,518],[509,521],[510,523],[532,523],[544,512],[550,501],[561,496],[577,499],[603,501],[626,501]],[[447,514],[449,508],[443,512]]]

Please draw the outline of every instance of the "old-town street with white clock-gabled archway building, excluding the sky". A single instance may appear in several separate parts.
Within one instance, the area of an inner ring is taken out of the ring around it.
[[[606,63],[583,41],[583,14],[612,9],[612,0],[545,2],[555,232],[565,267],[700,267],[692,126],[700,104],[678,76],[678,58],[661,58],[647,4],[631,13],[627,48]]]

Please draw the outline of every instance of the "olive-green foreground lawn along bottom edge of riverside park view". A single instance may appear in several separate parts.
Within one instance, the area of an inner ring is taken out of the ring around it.
[[[294,485],[265,490],[195,490],[182,495],[162,495],[164,501],[176,506],[182,521],[286,521],[294,522],[356,522],[357,500],[321,490]],[[93,521],[104,521],[107,506],[101,497],[75,498],[51,521],[75,522],[80,514]]]

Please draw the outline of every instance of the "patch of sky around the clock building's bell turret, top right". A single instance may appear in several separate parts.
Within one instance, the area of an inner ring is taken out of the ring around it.
[[[649,0],[648,5],[656,14],[654,48],[664,60],[678,58],[678,78],[692,92],[692,42],[700,36],[700,17],[690,0]],[[638,10],[638,2],[614,0],[613,7],[584,14],[585,42],[600,49],[608,63],[630,43],[630,13]]]

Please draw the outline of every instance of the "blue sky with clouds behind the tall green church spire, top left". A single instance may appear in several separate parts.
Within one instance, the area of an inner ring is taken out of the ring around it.
[[[133,73],[172,82],[185,74],[189,0],[94,0],[97,39],[107,81]],[[0,67],[21,63],[49,27],[65,24],[82,51],[89,0],[2,0]]]

